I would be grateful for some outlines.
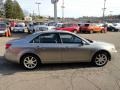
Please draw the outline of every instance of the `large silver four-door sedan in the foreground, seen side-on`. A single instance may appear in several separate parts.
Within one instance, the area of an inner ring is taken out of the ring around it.
[[[104,66],[117,52],[113,44],[78,37],[67,31],[43,31],[6,43],[5,58],[34,69],[39,63],[92,62]]]

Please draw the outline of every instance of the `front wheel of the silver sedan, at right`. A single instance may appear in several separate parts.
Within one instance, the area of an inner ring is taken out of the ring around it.
[[[98,52],[92,58],[92,63],[95,66],[102,67],[107,64],[109,55],[106,52]]]

